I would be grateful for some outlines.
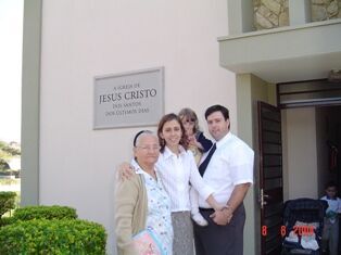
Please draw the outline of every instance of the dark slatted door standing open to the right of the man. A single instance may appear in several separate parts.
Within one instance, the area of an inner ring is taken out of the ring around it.
[[[279,255],[283,208],[281,117],[278,107],[258,102],[262,255]]]

